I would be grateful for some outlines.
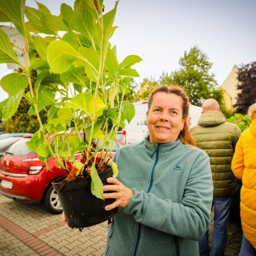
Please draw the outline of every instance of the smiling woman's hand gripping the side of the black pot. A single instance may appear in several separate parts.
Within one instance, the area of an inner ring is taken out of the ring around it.
[[[104,193],[102,198],[114,198],[116,199],[116,201],[114,203],[111,203],[110,205],[106,205],[105,210],[110,211],[116,208],[117,206],[121,206],[123,208],[127,207],[128,203],[131,200],[131,197],[133,196],[133,190],[127,188],[127,186],[118,181],[116,178],[108,178],[107,182],[111,184],[103,186],[103,191],[112,192]]]

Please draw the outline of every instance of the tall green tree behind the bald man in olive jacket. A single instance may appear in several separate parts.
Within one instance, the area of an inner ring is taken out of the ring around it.
[[[179,85],[184,88],[190,102],[196,106],[202,106],[203,100],[215,98],[220,105],[223,105],[223,92],[217,89],[215,74],[209,74],[212,63],[206,54],[198,47],[192,47],[188,53],[180,58],[181,68],[170,74],[163,74],[160,83]]]

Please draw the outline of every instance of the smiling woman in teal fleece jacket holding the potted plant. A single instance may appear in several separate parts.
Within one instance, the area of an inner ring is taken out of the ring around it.
[[[148,99],[149,135],[117,150],[117,179],[103,198],[119,206],[108,232],[106,255],[199,255],[209,227],[213,184],[209,158],[188,131],[188,96],[161,86]]]

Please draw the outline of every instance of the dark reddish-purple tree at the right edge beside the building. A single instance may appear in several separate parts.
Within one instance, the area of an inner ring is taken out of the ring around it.
[[[237,113],[247,114],[249,106],[256,102],[256,61],[240,66],[237,88],[241,91],[233,106]]]

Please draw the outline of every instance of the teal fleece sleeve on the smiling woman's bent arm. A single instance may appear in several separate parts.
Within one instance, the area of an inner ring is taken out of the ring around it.
[[[204,153],[204,152],[203,152]],[[138,223],[191,240],[200,240],[209,228],[213,182],[209,157],[201,153],[188,175],[181,203],[133,189],[125,208]]]

